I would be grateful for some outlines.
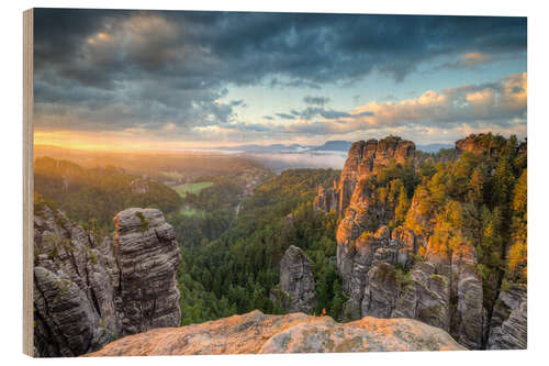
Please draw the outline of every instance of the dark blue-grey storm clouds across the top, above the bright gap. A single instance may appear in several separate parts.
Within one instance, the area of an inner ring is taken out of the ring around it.
[[[317,88],[372,71],[402,80],[438,56],[475,63],[526,51],[520,18],[36,9],[36,115],[43,126],[228,125],[229,85]],[[463,58],[466,57],[466,58]],[[283,119],[346,117],[327,98]],[[64,110],[65,107],[65,110]],[[64,117],[64,118],[60,118]],[[42,122],[41,122],[42,121]],[[47,121],[47,122],[46,122]],[[251,124],[250,124],[251,125]],[[246,125],[244,125],[246,126]]]

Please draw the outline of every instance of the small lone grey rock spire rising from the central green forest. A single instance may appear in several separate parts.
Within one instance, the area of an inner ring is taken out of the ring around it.
[[[281,303],[287,313],[312,313],[316,307],[316,290],[311,260],[293,245],[280,262],[280,284],[271,290],[271,299]]]

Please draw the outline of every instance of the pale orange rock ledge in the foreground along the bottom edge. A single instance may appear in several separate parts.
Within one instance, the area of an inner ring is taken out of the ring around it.
[[[411,319],[367,317],[336,323],[329,317],[267,315],[255,310],[130,335],[86,356],[460,350],[466,348],[445,331]]]

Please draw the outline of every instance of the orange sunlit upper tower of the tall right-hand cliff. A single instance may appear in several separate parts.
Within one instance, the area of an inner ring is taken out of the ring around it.
[[[335,210],[345,213],[351,202],[355,188],[359,178],[374,175],[379,169],[388,166],[392,159],[403,164],[407,158],[413,158],[415,144],[397,136],[378,140],[357,141],[352,143],[349,155],[341,170],[337,187],[320,188],[315,209],[322,211]]]

